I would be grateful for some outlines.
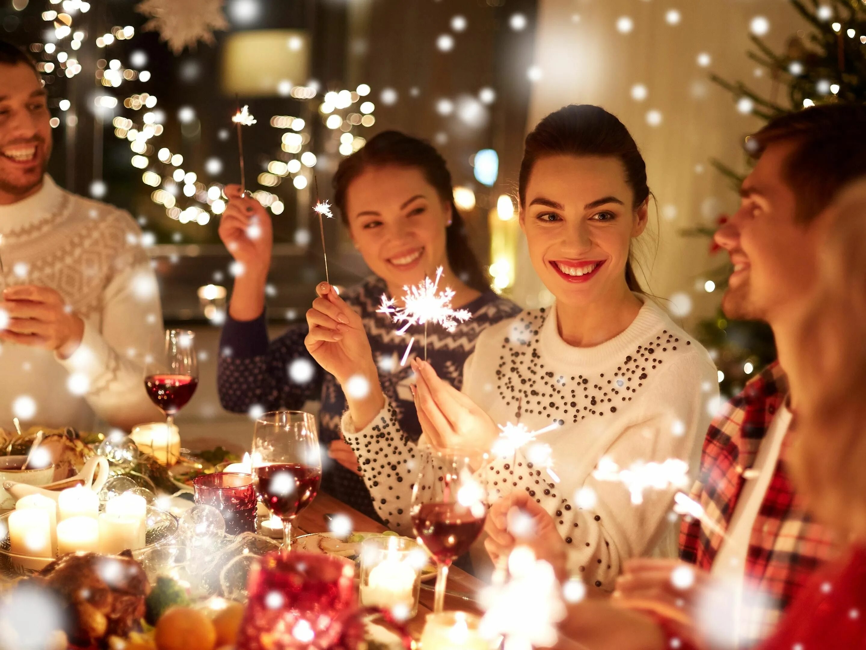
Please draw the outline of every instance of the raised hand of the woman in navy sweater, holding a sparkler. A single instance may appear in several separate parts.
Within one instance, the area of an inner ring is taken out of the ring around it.
[[[267,276],[274,231],[268,211],[255,198],[241,196],[240,185],[226,185],[229,198],[220,218],[219,237],[231,257],[243,264],[244,273]]]

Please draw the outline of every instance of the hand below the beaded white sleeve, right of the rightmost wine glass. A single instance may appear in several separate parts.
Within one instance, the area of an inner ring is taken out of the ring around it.
[[[550,562],[559,580],[565,579],[565,542],[553,517],[526,492],[514,492],[493,504],[484,530],[488,534],[484,549],[494,564],[507,558],[519,544],[533,549],[538,559]]]

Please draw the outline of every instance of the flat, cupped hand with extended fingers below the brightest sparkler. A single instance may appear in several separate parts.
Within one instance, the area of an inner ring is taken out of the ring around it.
[[[493,419],[465,394],[436,375],[427,361],[412,361],[415,406],[421,428],[439,449],[490,451],[499,436]],[[477,469],[477,468],[476,468]]]

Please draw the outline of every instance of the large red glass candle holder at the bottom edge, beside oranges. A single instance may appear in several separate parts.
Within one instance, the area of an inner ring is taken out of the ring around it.
[[[268,553],[249,571],[237,650],[341,647],[358,608],[354,577],[344,558]]]

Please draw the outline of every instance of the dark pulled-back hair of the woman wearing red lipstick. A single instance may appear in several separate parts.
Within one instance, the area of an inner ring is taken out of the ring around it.
[[[520,207],[526,205],[527,184],[533,166],[546,156],[600,156],[616,158],[625,167],[625,182],[634,194],[632,210],[650,197],[647,170],[643,156],[629,130],[602,107],[570,104],[541,120],[527,135],[520,163]],[[625,264],[625,282],[631,291],[644,293],[635,275],[629,253]]]

